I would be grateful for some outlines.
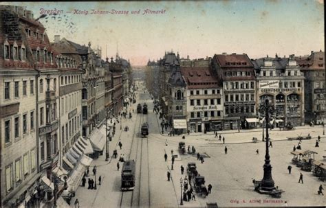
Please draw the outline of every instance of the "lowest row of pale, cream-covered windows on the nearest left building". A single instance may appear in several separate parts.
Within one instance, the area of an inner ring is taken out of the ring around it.
[[[36,169],[36,153],[35,148],[23,154],[23,157],[16,159],[14,163],[6,166],[6,192],[9,193],[21,182],[28,177],[28,174]]]

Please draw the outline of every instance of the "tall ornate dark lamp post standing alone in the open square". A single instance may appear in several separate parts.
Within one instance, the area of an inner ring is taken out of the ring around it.
[[[272,165],[270,165],[270,152],[268,150],[268,122],[270,113],[272,113],[273,108],[268,104],[268,99],[265,100],[265,104],[261,106],[261,110],[265,111],[265,122],[266,122],[266,152],[265,152],[265,164],[263,165],[263,179],[261,180],[261,189],[264,191],[272,191],[275,189],[274,181],[272,178]]]

